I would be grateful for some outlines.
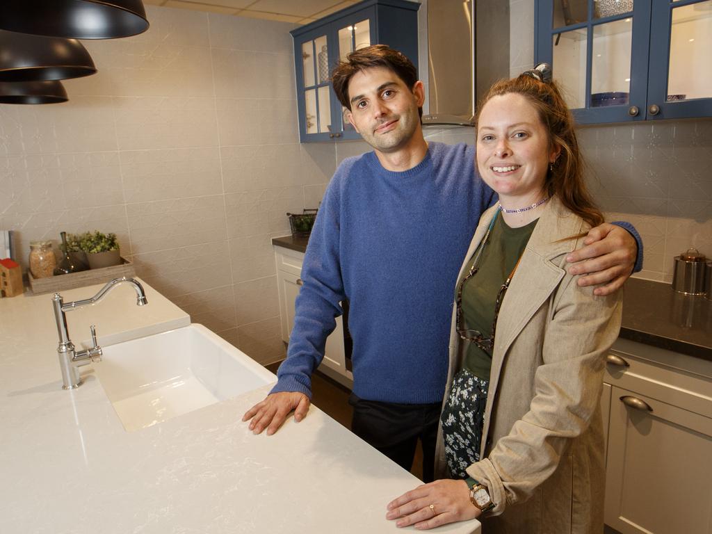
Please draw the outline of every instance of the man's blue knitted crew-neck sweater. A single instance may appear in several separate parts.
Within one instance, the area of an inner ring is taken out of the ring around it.
[[[309,239],[288,356],[272,392],[311,396],[311,373],[347,299],[353,392],[441,402],[456,278],[480,215],[496,200],[474,159],[471,146],[431,142],[404,172],[387,171],[374,152],[342,162]]]

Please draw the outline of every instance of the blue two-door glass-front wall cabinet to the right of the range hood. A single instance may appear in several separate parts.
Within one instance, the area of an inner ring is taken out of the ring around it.
[[[577,122],[712,116],[712,0],[537,0],[535,62]]]

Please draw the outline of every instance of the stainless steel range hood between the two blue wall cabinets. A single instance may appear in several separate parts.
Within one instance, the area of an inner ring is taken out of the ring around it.
[[[509,76],[509,2],[427,0],[428,104],[424,125],[473,126],[476,102]]]

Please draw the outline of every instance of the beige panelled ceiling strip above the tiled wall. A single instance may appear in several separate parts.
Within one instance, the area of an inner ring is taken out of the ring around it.
[[[357,4],[358,0],[143,0],[153,6],[210,11],[253,19],[307,24]]]

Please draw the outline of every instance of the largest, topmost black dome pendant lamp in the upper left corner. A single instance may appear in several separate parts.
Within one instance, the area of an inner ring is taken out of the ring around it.
[[[2,0],[0,28],[76,39],[129,37],[148,29],[141,0]]]

